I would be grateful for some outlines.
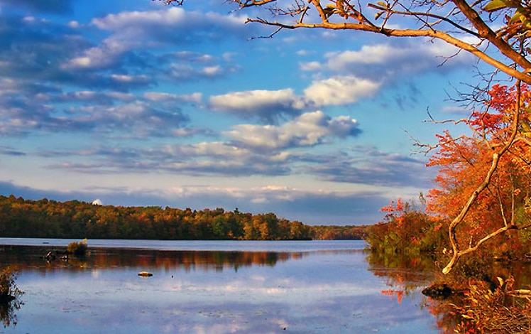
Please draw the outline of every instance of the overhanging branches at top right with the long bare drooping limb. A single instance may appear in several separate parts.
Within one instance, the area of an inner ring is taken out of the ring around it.
[[[166,4],[182,5],[184,0],[164,0]],[[531,36],[531,2],[522,0],[230,0],[239,9],[262,9],[261,16],[248,18],[247,22],[272,26],[273,37],[283,29],[323,28],[376,33],[390,37],[424,37],[444,41],[456,46],[457,53],[465,51],[489,64],[493,73],[501,72],[504,78],[531,84],[529,45]],[[253,11],[256,13],[256,11]],[[262,15],[263,14],[263,15]],[[254,15],[254,14],[253,14]],[[488,82],[492,82],[491,77]],[[518,95],[518,94],[517,94]],[[515,97],[520,100],[520,97]],[[517,103],[518,104],[518,103]],[[517,106],[517,109],[520,107]],[[444,269],[447,273],[463,254],[456,242],[455,232],[464,221],[478,197],[488,189],[498,161],[518,137],[522,126],[521,112],[508,114],[508,136],[495,145],[487,145],[473,191],[460,210],[454,212],[449,225],[454,257]],[[449,138],[449,141],[458,138]],[[484,138],[485,140],[488,140]],[[525,142],[524,139],[518,141]],[[439,144],[442,144],[439,142]],[[527,143],[526,143],[527,144]],[[437,149],[435,146],[434,149]],[[488,153],[487,153],[488,152]],[[480,153],[479,151],[476,153]],[[481,244],[481,243],[480,243]],[[468,252],[468,251],[466,251]]]

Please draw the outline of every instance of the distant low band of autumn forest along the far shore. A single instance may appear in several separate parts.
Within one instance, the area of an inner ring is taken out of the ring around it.
[[[0,196],[0,237],[67,239],[362,239],[364,226],[310,226],[223,208],[94,205]]]

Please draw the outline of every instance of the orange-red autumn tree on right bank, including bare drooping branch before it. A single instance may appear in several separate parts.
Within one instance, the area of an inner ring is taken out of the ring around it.
[[[489,239],[530,227],[522,212],[531,191],[530,107],[527,85],[494,85],[483,110],[461,120],[471,136],[438,136],[429,166],[439,168],[439,187],[429,193],[428,210],[451,220],[444,273]]]

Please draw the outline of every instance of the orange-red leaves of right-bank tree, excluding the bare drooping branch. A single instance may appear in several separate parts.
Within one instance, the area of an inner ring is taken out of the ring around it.
[[[437,151],[427,166],[439,168],[437,188],[429,191],[427,212],[440,218],[453,218],[464,208],[472,193],[483,182],[493,162],[493,151],[510,137],[510,122],[515,117],[515,87],[494,85],[488,92],[484,112],[473,112],[467,121],[472,136],[454,138],[449,131],[437,135]],[[501,156],[491,183],[466,213],[458,237],[468,243],[512,222],[513,204],[522,203],[531,188],[531,92],[522,86],[520,126],[517,140]],[[522,189],[526,191],[522,191]],[[488,212],[488,214],[486,214]]]

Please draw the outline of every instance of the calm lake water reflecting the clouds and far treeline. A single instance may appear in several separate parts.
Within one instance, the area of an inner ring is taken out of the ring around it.
[[[0,238],[26,292],[0,333],[439,333],[431,274],[369,265],[362,241],[89,240],[85,259],[41,258],[70,241]]]

